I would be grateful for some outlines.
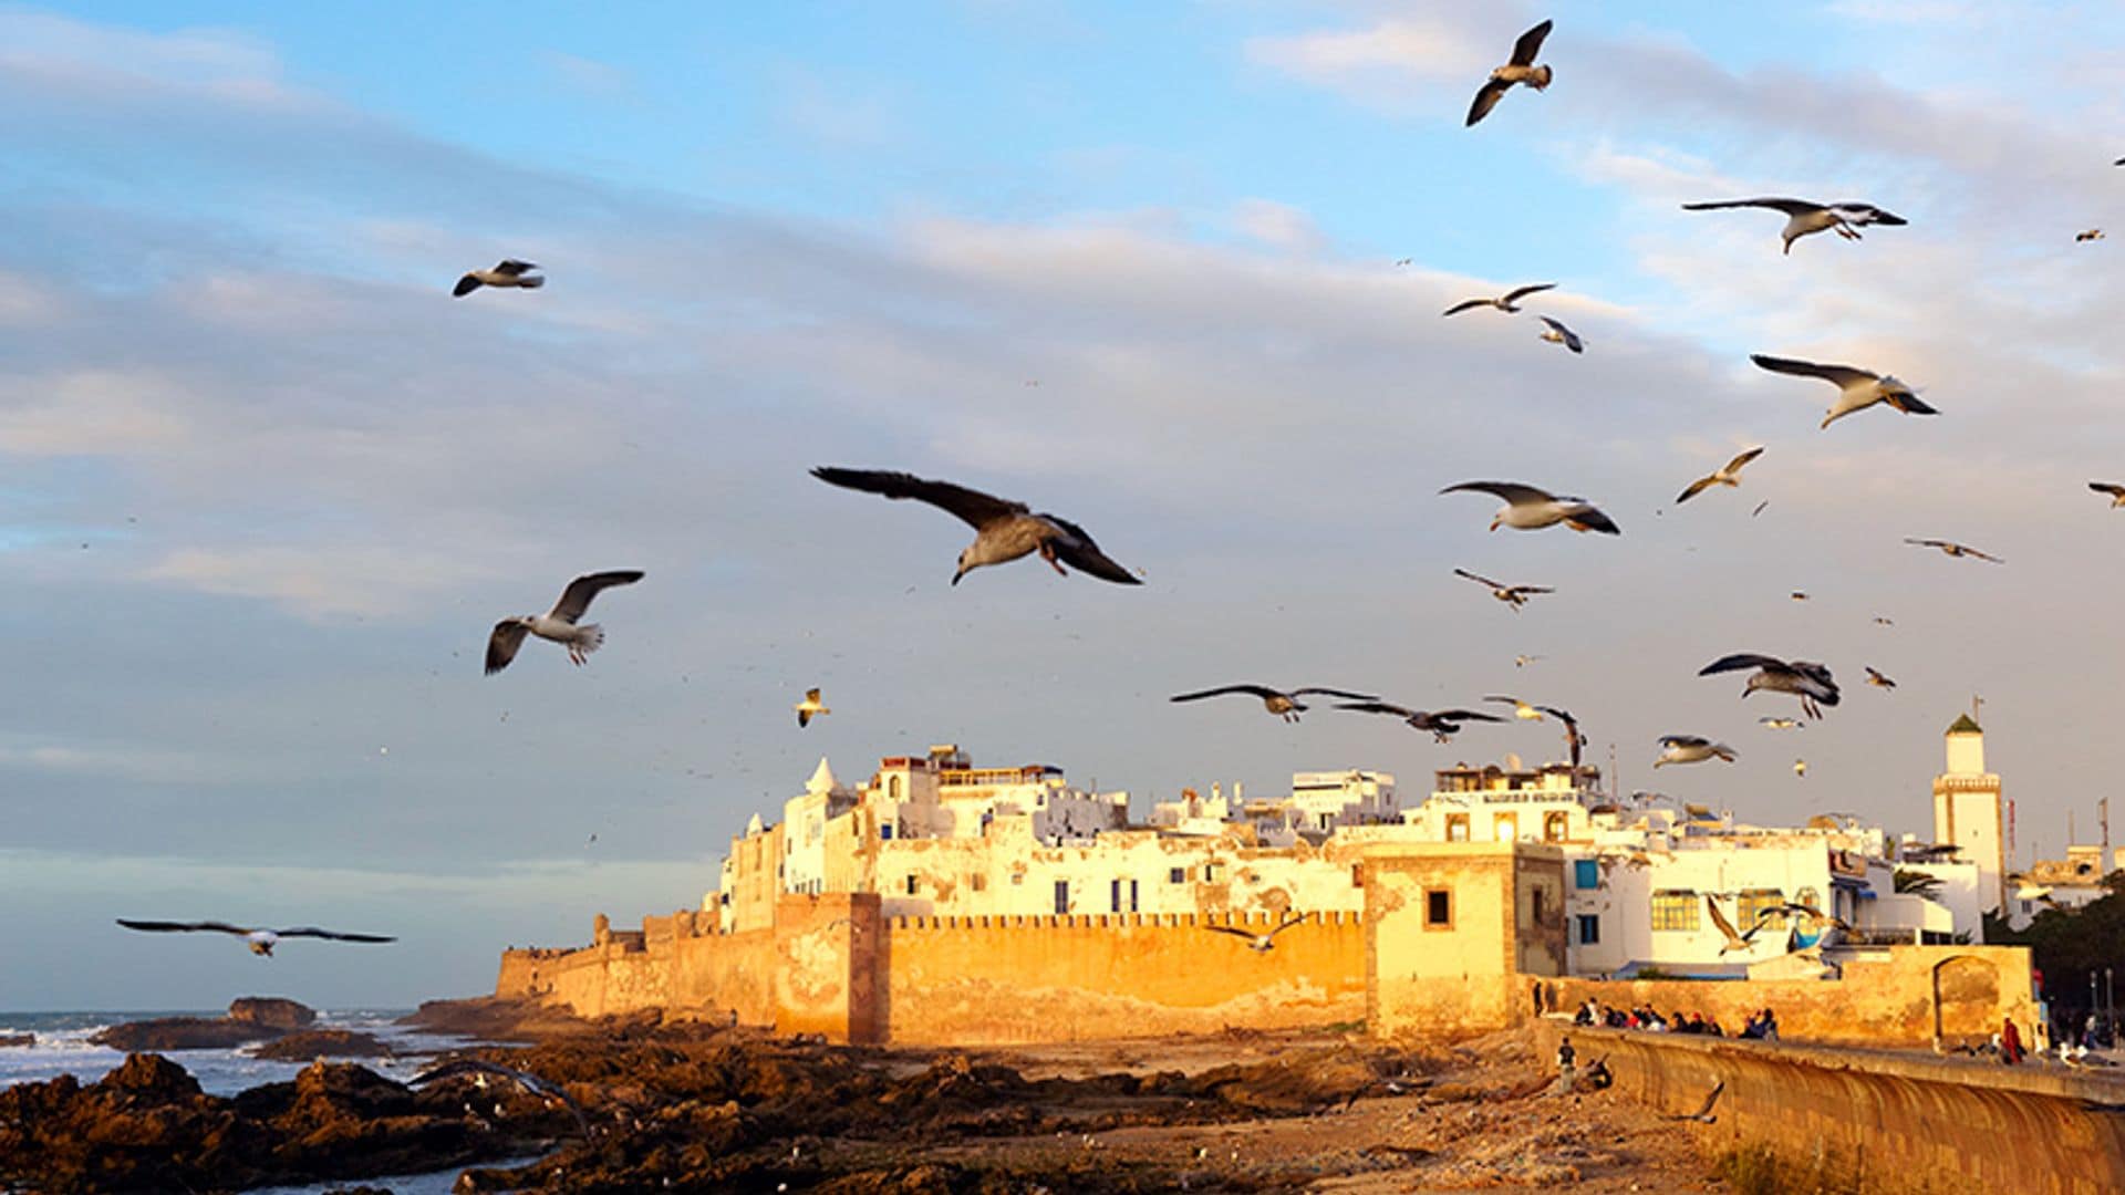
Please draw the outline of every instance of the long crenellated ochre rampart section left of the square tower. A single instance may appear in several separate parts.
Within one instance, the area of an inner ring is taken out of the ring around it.
[[[1269,914],[901,916],[878,950],[895,1044],[1056,1042],[1364,1019],[1364,927],[1315,914],[1256,953],[1209,925]]]

